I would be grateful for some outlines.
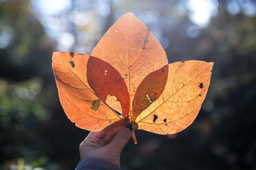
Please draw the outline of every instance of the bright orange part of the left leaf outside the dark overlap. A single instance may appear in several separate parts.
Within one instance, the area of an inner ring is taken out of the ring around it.
[[[98,131],[121,117],[90,88],[86,76],[89,58],[88,55],[58,52],[52,56],[52,67],[67,117],[78,127]]]

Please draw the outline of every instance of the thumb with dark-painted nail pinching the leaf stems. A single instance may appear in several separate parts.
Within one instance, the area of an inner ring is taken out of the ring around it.
[[[122,149],[125,147],[129,139],[131,138],[131,134],[134,133],[134,130],[138,128],[137,123],[128,123],[116,134],[111,143],[109,143],[109,149],[115,151],[116,154],[120,154]]]

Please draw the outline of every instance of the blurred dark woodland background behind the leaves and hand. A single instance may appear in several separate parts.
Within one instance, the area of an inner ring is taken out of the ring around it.
[[[169,136],[137,131],[122,169],[256,169],[256,3],[250,0],[0,0],[0,167],[74,169],[88,132],[65,116],[53,51],[91,53],[133,12],[169,63],[215,62],[197,119]]]

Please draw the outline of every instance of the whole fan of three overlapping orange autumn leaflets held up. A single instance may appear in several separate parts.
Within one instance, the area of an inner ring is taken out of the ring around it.
[[[168,64],[158,40],[128,12],[91,56],[54,53],[52,67],[61,105],[76,126],[98,131],[129,118],[140,130],[175,134],[198,115],[213,62]]]

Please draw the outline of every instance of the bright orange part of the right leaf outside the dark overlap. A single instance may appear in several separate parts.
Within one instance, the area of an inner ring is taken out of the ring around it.
[[[136,118],[139,129],[174,134],[188,127],[198,115],[209,88],[213,62],[191,60],[168,67],[162,95]]]

